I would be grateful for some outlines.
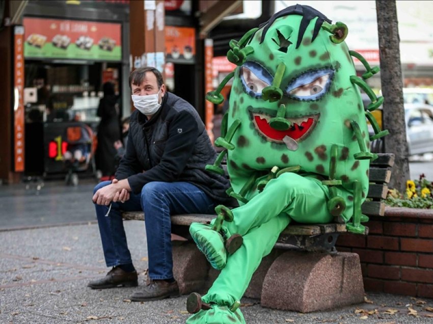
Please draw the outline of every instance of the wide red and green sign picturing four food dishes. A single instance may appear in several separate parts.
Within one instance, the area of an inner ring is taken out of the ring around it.
[[[24,57],[120,61],[121,24],[23,18]]]

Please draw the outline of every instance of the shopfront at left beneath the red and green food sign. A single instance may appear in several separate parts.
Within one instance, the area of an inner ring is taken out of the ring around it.
[[[67,129],[79,122],[97,130],[105,82],[119,95],[119,119],[129,115],[129,97],[122,95],[129,92],[123,89],[129,74],[128,12],[126,1],[37,1],[25,7],[26,175],[64,172]]]

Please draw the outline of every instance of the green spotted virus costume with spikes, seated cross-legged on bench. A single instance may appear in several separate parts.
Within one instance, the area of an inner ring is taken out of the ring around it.
[[[223,118],[224,150],[211,172],[224,173],[239,207],[215,208],[210,225],[190,233],[221,273],[207,294],[191,294],[188,323],[243,323],[239,300],[261,259],[293,220],[346,223],[364,233],[361,204],[368,191],[370,140],[387,134],[370,114],[383,102],[364,79],[378,72],[347,48],[344,23],[332,24],[308,6],[290,6],[230,41],[227,58],[237,65],[206,98],[221,103],[232,77],[230,108]],[[366,68],[356,76],[352,57]],[[358,87],[370,97],[364,110]],[[366,118],[375,134],[370,138]]]

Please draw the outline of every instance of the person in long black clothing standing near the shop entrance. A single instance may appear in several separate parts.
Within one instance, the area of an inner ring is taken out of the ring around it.
[[[103,177],[111,177],[115,172],[117,154],[114,143],[122,138],[119,127],[119,103],[111,82],[104,83],[102,90],[104,96],[99,101],[97,112],[101,121],[97,134],[96,166],[101,170]]]

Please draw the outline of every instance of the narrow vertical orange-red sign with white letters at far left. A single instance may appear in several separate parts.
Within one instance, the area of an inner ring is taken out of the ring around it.
[[[24,28],[14,28],[14,165],[24,171]]]

